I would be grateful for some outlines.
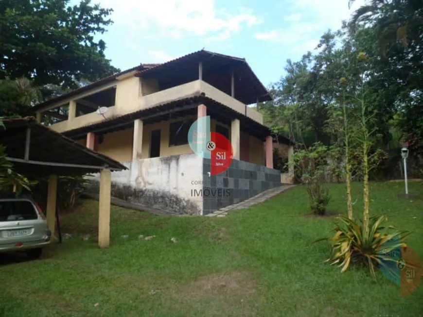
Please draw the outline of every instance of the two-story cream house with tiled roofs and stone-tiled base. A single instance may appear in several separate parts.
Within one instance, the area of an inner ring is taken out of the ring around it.
[[[112,196],[175,213],[206,215],[281,185],[273,141],[248,105],[271,100],[245,59],[206,50],[141,64],[35,106],[51,128],[128,167],[112,173]],[[209,176],[211,160],[188,144],[190,125],[230,140],[231,166]],[[279,139],[281,141],[281,138]],[[292,143],[285,138],[288,153]],[[293,171],[282,175],[293,181]],[[225,190],[218,190],[225,189]]]

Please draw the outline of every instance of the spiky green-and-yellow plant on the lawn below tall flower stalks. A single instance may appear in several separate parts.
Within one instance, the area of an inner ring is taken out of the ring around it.
[[[351,264],[357,264],[369,267],[371,275],[376,279],[375,268],[388,268],[389,262],[396,262],[397,259],[388,254],[405,247],[401,240],[410,234],[397,231],[392,226],[382,226],[384,219],[385,216],[370,217],[369,230],[365,230],[362,221],[356,222],[342,216],[339,217],[339,222],[335,222],[333,237],[321,238],[315,242],[331,242],[331,255],[326,262],[342,267],[341,272],[345,272]]]

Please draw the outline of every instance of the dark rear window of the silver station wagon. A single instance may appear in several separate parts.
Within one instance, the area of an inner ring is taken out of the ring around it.
[[[38,215],[28,200],[0,200],[0,221],[35,220]]]

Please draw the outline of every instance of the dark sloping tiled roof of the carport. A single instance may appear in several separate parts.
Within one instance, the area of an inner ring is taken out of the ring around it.
[[[121,163],[39,124],[34,117],[1,120],[0,144],[16,172],[30,177],[84,175],[103,168],[127,169]]]

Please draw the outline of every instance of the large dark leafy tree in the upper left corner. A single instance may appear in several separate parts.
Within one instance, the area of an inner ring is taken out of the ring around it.
[[[35,86],[76,88],[118,71],[105,58],[106,44],[94,40],[112,12],[90,0],[2,0],[0,79],[26,77]]]

